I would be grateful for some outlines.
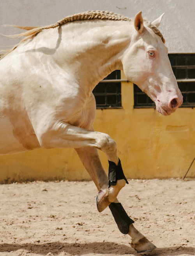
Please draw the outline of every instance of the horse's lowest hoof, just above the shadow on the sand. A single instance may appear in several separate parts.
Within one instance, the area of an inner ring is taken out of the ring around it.
[[[156,249],[156,246],[145,237],[138,240],[138,242],[131,242],[131,247],[138,253],[149,252]]]

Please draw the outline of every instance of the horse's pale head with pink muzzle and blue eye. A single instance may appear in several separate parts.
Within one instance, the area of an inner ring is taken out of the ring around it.
[[[183,96],[168,59],[165,41],[157,29],[162,16],[152,23],[143,20],[142,12],[135,16],[135,29],[122,64],[128,80],[155,102],[158,112],[169,115],[182,104]]]

